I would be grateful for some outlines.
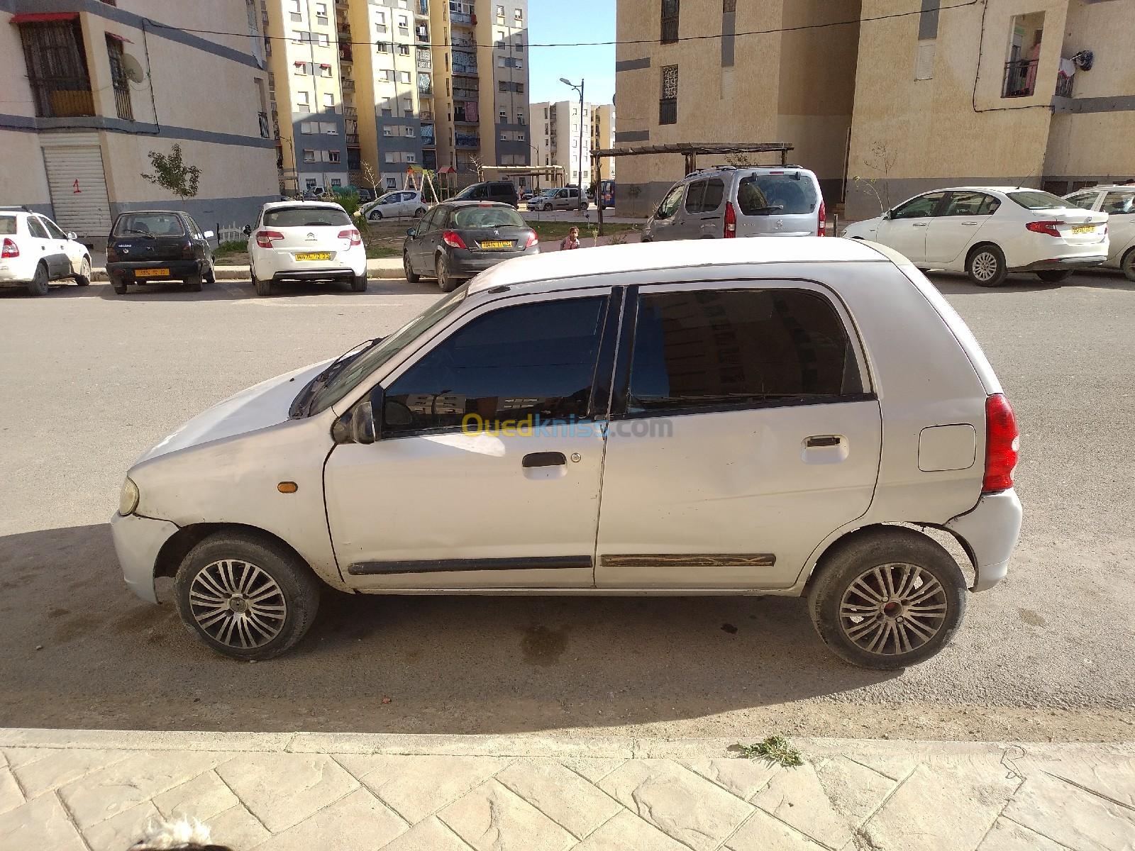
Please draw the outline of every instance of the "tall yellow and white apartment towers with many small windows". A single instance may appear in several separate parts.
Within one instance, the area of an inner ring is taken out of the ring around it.
[[[528,162],[527,0],[262,3],[285,191]]]

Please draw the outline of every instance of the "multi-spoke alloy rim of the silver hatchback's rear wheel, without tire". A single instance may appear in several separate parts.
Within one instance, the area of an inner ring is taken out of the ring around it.
[[[917,650],[945,623],[945,589],[915,564],[881,564],[860,573],[840,600],[840,629],[857,647],[881,656]]]

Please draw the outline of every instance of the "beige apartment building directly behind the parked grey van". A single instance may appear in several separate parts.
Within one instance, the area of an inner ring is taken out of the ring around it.
[[[859,0],[619,0],[616,146],[788,142],[791,161],[816,172],[825,196],[839,195],[859,11]],[[878,62],[889,67],[885,54]],[[621,158],[620,211],[648,212],[682,171],[678,154]]]

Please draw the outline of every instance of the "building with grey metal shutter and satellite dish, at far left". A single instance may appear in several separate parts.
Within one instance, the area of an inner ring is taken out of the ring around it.
[[[0,205],[89,243],[146,207],[252,221],[277,191],[264,59],[253,0],[0,0]],[[184,203],[142,177],[175,143],[201,169]]]

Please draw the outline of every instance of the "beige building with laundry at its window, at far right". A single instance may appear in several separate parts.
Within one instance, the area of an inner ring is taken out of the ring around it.
[[[847,214],[938,186],[1135,177],[1135,0],[864,0]]]

